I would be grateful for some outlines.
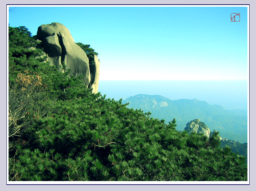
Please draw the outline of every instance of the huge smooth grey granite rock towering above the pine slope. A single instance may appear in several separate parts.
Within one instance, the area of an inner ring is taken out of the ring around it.
[[[89,59],[71,36],[69,29],[63,24],[43,24],[38,27],[37,41],[42,41],[47,61],[59,68],[59,71],[70,71],[70,76],[84,75],[84,83],[98,92],[100,62],[95,55],[95,63],[89,64]],[[38,46],[40,48],[40,45]]]

